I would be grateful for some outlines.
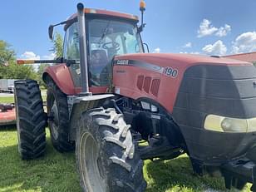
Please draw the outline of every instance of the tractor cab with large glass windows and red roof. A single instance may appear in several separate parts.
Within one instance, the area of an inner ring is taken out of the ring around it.
[[[111,61],[116,55],[144,52],[137,17],[124,13],[85,9],[89,86],[109,86]],[[80,59],[78,25],[72,16],[64,27],[63,58]],[[74,86],[81,87],[79,62],[69,67]]]

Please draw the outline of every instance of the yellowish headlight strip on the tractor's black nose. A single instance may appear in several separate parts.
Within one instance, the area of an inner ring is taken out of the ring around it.
[[[253,132],[256,131],[256,117],[250,119],[230,118],[225,116],[206,116],[204,129],[219,132]]]

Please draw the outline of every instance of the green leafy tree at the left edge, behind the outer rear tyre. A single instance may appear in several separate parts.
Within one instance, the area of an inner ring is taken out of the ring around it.
[[[0,79],[35,79],[37,74],[32,66],[17,65],[11,46],[0,40]],[[7,64],[6,64],[7,63]]]

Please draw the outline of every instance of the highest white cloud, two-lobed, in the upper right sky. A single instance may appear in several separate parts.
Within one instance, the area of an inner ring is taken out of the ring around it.
[[[197,37],[205,37],[210,35],[215,35],[218,37],[224,37],[228,35],[231,31],[231,26],[225,24],[224,27],[214,27],[208,19],[203,20],[199,25],[199,30],[197,31]]]

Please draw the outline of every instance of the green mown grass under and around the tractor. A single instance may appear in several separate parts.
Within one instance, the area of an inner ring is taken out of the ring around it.
[[[1,102],[10,99],[1,98]],[[225,191],[224,180],[193,175],[190,160],[145,161],[146,192]],[[81,191],[74,153],[60,154],[53,149],[47,129],[47,154],[38,159],[21,160],[17,152],[16,127],[0,127],[0,192]],[[249,191],[249,185],[243,191]]]

